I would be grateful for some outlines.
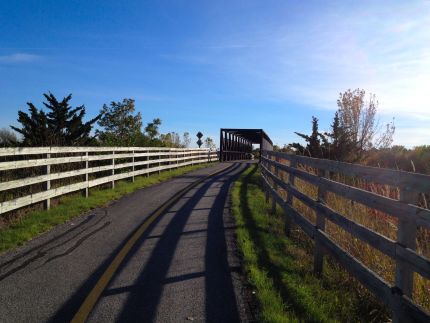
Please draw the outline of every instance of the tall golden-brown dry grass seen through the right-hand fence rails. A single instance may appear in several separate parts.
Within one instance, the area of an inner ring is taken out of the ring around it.
[[[283,160],[282,163],[288,164],[288,161]],[[307,172],[316,174],[316,170],[309,167],[300,166],[301,169]],[[274,169],[272,169],[274,171]],[[279,176],[285,181],[288,180],[288,174],[285,172],[279,172]],[[332,175],[332,180],[337,182],[345,183],[354,187],[358,187],[382,196],[390,197],[393,199],[399,198],[399,190],[395,187],[388,185],[380,185],[376,183],[369,183],[364,180],[356,178],[348,178],[343,175]],[[295,187],[302,193],[317,199],[318,188],[315,185],[309,184],[308,182],[295,179]],[[281,195],[287,197],[287,193],[279,190]],[[375,232],[384,235],[385,237],[396,240],[397,238],[397,219],[385,214],[378,210],[369,208],[365,205],[351,201],[349,199],[338,196],[334,193],[328,193],[326,197],[326,204],[344,215],[350,220],[355,221],[367,228],[372,229]],[[427,201],[425,195],[421,194],[417,200],[417,205],[421,207],[427,207]],[[315,211],[307,207],[301,201],[293,198],[293,207],[298,210],[303,216],[308,218],[312,223],[315,224],[316,214]],[[352,256],[359,259],[367,267],[377,273],[385,281],[394,284],[395,281],[395,261],[381,253],[377,249],[371,247],[367,243],[355,238],[336,224],[326,221],[326,231],[330,237],[337,242],[344,250],[349,252]],[[296,233],[297,239],[301,240],[308,248],[313,248],[313,243],[308,238],[304,237],[303,233]],[[430,230],[426,228],[420,228],[417,235],[417,252],[427,258],[430,258]],[[357,285],[353,280],[351,283],[354,286],[351,288],[363,288]],[[419,274],[414,276],[414,291],[413,300],[430,310],[430,280],[425,279]]]

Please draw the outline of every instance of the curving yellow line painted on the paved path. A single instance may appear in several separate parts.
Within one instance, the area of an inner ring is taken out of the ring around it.
[[[229,165],[227,167],[224,167],[223,169],[220,169],[212,174],[209,174],[208,176],[205,176],[194,183],[191,183],[184,189],[180,190],[178,193],[173,195],[172,198],[170,198],[167,202],[165,202],[162,206],[160,206],[149,218],[146,219],[144,223],[137,229],[137,231],[130,237],[130,239],[126,242],[124,247],[118,252],[118,254],[115,256],[113,261],[109,264],[108,268],[105,270],[103,275],[100,277],[98,282],[95,284],[91,292],[87,295],[82,305],[79,307],[79,310],[76,312],[75,316],[72,319],[72,323],[80,323],[85,322],[88,318],[88,315],[93,310],[94,306],[96,305],[98,299],[100,298],[100,295],[103,293],[103,291],[106,289],[107,285],[111,281],[113,275],[118,270],[119,266],[123,262],[124,258],[127,256],[127,254],[130,252],[130,250],[133,248],[135,243],[139,240],[139,238],[145,233],[146,229],[154,222],[155,219],[157,219],[164,211],[166,211],[168,208],[170,208],[173,204],[175,204],[181,197],[183,197],[189,190],[191,190],[193,187],[197,186],[198,184],[202,183],[203,181],[207,180],[208,178],[215,176],[226,169],[232,167],[232,165]]]

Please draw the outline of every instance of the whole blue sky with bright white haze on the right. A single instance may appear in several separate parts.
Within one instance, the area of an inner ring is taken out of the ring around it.
[[[264,128],[275,143],[328,129],[339,92],[395,117],[395,143],[430,144],[430,1],[0,2],[0,127],[42,93],[88,116],[136,99],[162,131]]]

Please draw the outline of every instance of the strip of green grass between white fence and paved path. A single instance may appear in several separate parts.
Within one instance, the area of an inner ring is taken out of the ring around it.
[[[34,211],[18,221],[11,223],[8,227],[0,230],[0,253],[10,250],[35,236],[48,231],[54,226],[64,223],[83,212],[93,208],[104,206],[109,202],[132,193],[140,188],[166,181],[170,178],[183,175],[192,170],[204,168],[208,163],[186,166],[171,171],[164,171],[161,174],[152,174],[149,177],[139,176],[135,182],[128,180],[115,182],[115,189],[90,189],[88,198],[81,194],[73,194],[62,197],[56,207],[49,211]]]

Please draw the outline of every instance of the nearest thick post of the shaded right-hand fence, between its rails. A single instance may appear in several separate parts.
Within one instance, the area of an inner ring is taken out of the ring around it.
[[[400,188],[399,200],[403,203],[415,203],[418,195],[409,187]],[[414,218],[399,219],[397,227],[397,244],[412,250],[416,249],[417,224]],[[414,272],[410,265],[396,257],[396,281],[395,285],[401,289],[403,295],[412,297],[414,288]],[[411,322],[409,317],[405,316],[403,308],[396,306],[393,311],[393,322]]]

